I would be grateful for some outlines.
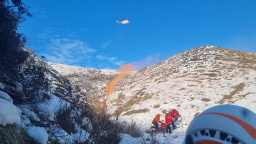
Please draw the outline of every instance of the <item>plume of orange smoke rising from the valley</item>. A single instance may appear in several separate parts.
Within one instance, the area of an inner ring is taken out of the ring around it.
[[[133,70],[135,70],[135,68],[131,64],[120,67],[119,75],[114,78],[113,81],[107,86],[107,98],[110,95],[111,91],[115,88],[116,84],[124,78],[125,74],[130,73]],[[107,106],[107,98],[103,101],[103,106]]]

